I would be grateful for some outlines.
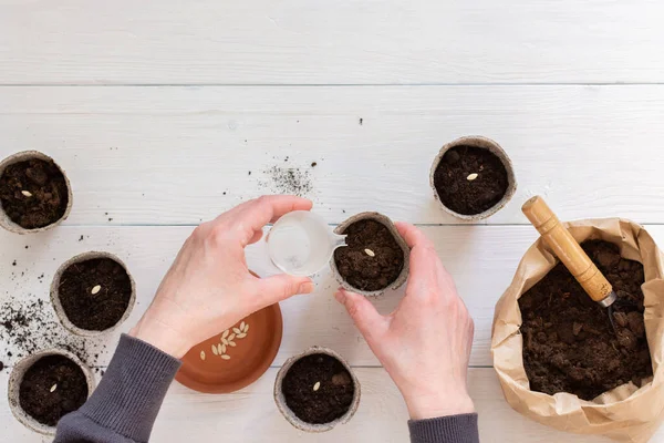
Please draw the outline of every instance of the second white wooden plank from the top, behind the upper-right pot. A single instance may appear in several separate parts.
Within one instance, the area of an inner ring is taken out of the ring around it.
[[[445,142],[481,134],[519,183],[484,223],[527,224],[519,207],[539,194],[563,220],[661,224],[662,121],[664,85],[0,87],[0,155],[54,156],[74,187],[70,225],[198,224],[288,192],[274,167],[308,175],[329,223],[378,210],[454,224],[430,164]]]

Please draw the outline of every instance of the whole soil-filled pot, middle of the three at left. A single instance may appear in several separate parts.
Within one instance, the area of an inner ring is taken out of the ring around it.
[[[51,302],[71,332],[92,337],[112,331],[129,317],[136,286],[124,262],[90,251],[65,261],[51,284]]]

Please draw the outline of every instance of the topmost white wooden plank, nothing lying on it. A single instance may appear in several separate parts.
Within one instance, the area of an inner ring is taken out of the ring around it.
[[[662,2],[0,1],[4,84],[664,81]]]

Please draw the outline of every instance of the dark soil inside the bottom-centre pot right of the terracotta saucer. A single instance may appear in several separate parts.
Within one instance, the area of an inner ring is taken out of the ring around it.
[[[314,391],[317,383],[320,385]],[[293,363],[283,378],[281,390],[286,404],[298,419],[322,424],[349,411],[355,385],[339,360],[324,353],[314,353]]]

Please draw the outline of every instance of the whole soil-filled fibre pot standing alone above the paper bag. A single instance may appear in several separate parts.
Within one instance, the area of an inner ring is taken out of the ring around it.
[[[490,138],[457,138],[440,148],[429,183],[443,209],[463,220],[480,220],[500,210],[517,190],[511,161]]]

